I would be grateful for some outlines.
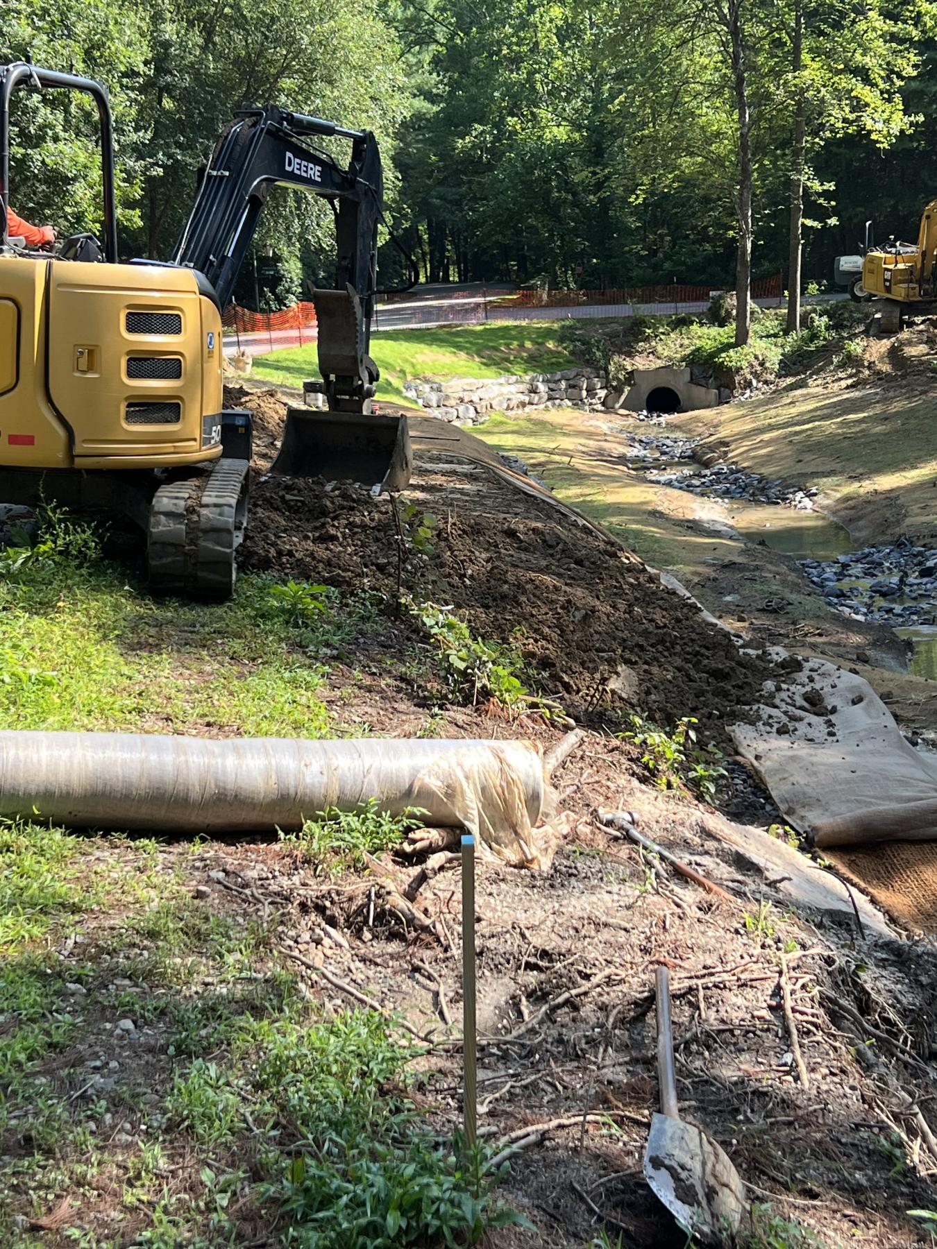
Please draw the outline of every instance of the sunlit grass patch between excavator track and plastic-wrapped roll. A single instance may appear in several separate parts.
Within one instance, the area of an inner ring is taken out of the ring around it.
[[[316,654],[342,632],[340,613],[304,629],[270,590],[246,576],[232,602],[206,606],[147,598],[107,565],[0,578],[0,722],[321,737]]]

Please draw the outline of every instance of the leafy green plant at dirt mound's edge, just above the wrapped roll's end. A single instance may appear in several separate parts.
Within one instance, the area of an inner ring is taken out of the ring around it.
[[[410,610],[439,649],[444,677],[454,694],[470,701],[493,698],[502,707],[536,702],[518,673],[523,661],[517,651],[501,642],[475,637],[450,607],[411,603]]]

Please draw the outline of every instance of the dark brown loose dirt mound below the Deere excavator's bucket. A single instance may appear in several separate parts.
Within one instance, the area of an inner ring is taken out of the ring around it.
[[[721,736],[760,699],[765,658],[741,653],[611,540],[488,470],[451,460],[416,452],[407,498],[440,525],[432,555],[407,560],[405,590],[452,605],[482,637],[517,643],[543,691],[578,717],[610,704],[666,724],[695,714],[707,734]],[[257,472],[240,563],[392,596],[390,501],[357,486]]]

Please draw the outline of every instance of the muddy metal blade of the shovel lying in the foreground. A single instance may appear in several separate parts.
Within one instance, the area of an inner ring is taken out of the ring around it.
[[[687,1235],[711,1245],[732,1243],[747,1210],[745,1189],[725,1150],[700,1128],[655,1114],[645,1179]]]

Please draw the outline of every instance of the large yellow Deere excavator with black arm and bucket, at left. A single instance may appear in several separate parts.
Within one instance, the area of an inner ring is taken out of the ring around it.
[[[90,95],[100,120],[101,239],[52,251],[11,239],[10,100],[15,90]],[[351,141],[341,167],[304,146]],[[129,518],[146,545],[152,591],[226,598],[247,522],[252,421],[222,401],[221,312],[267,196],[289,185],[335,210],[336,277],[316,290],[327,410],[287,410],[272,472],[399,490],[411,471],[406,418],[377,415],[369,355],[381,214],[370,131],[275,105],[235,114],[215,145],[167,262],[121,262],[107,91],[25,62],[0,67],[0,501],[54,501]]]

